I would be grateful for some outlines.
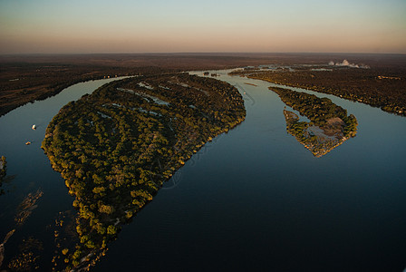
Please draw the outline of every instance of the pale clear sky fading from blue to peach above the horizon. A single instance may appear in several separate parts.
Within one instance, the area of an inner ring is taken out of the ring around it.
[[[406,53],[406,0],[0,0],[0,53]]]

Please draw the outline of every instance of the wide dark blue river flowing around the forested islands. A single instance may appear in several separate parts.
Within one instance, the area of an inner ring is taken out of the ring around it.
[[[402,271],[406,118],[299,90],[332,99],[359,122],[355,138],[315,158],[286,132],[285,105],[267,89],[273,84],[216,73],[243,94],[246,121],[187,161],[94,270]],[[54,220],[73,211],[73,197],[40,149],[44,131],[64,104],[109,81],[73,85],[0,118],[0,155],[15,175],[0,196],[0,243],[18,204],[43,190],[5,244],[6,260],[29,237],[43,242],[43,264],[52,257]]]

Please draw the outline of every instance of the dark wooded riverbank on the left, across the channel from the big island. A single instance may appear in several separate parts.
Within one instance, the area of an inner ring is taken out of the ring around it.
[[[0,116],[27,102],[43,100],[75,84],[125,75],[157,74],[159,67],[109,67],[58,63],[13,63],[0,67]]]

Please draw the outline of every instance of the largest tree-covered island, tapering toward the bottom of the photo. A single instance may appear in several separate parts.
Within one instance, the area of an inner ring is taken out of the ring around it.
[[[165,180],[245,115],[236,88],[188,73],[112,82],[64,106],[42,147],[79,213],[77,241],[61,240],[55,265],[92,266]]]

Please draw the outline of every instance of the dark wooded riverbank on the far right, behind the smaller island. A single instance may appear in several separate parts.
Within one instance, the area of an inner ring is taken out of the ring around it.
[[[250,78],[333,94],[406,116],[406,70],[334,68],[333,71],[256,71]]]

